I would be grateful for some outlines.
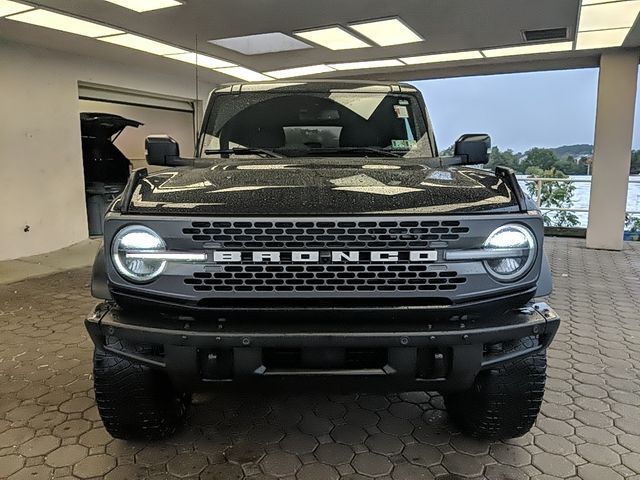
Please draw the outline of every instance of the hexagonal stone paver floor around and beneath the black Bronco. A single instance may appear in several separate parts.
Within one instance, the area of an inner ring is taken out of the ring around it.
[[[113,440],[82,324],[89,270],[0,286],[0,478],[640,479],[640,244],[549,239],[564,323],[531,433],[461,436],[437,394],[199,396],[159,443]]]

